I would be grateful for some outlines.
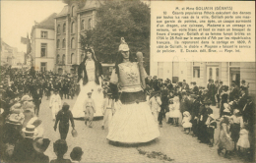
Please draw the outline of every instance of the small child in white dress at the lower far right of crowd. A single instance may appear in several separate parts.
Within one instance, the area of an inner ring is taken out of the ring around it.
[[[243,154],[246,154],[248,149],[250,148],[250,142],[249,142],[249,132],[248,132],[248,125],[244,124],[243,128],[241,129],[239,133],[240,137],[237,141],[238,150],[241,151]]]

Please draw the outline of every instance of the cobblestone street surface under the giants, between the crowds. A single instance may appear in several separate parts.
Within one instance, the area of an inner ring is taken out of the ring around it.
[[[71,109],[75,99],[64,99],[63,102],[70,104]],[[51,110],[48,107],[49,100],[43,97],[39,118],[43,120],[44,136],[50,138],[51,143],[45,154],[50,160],[56,158],[53,152],[53,142],[59,138],[58,129],[54,132]],[[214,108],[214,114],[218,117],[218,109]],[[88,128],[84,121],[75,120],[77,137],[72,137],[70,132],[67,136],[69,146],[66,157],[73,147],[80,146],[84,150],[81,162],[163,162],[160,159],[148,158],[146,155],[139,154],[137,149],[148,152],[156,151],[166,154],[167,157],[174,159],[172,162],[242,162],[238,158],[226,159],[218,155],[217,146],[209,147],[207,144],[199,143],[196,137],[183,134],[181,127],[172,127],[163,123],[160,128],[160,137],[155,141],[138,146],[114,146],[108,143],[107,128],[101,130],[102,120],[94,121],[94,127]],[[71,128],[70,128],[71,129]],[[216,137],[218,131],[216,130]]]

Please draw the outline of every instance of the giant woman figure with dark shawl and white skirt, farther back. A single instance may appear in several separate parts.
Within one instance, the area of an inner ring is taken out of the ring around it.
[[[80,93],[72,109],[74,118],[84,118],[85,113],[83,104],[87,98],[87,93],[93,90],[92,98],[96,102],[95,117],[102,116],[103,92],[101,90],[101,64],[96,60],[95,52],[92,48],[86,49],[84,61],[78,68],[78,82],[80,84]]]

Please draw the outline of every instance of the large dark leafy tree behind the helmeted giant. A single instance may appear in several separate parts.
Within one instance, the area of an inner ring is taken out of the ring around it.
[[[98,60],[109,62],[118,51],[120,38],[124,37],[132,53],[144,53],[149,72],[150,12],[150,8],[139,0],[105,1],[96,11],[96,27],[81,36],[81,46],[94,46]]]

